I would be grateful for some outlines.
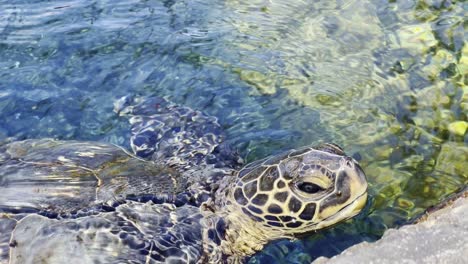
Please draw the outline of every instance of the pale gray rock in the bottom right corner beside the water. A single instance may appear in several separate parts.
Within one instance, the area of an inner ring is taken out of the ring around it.
[[[390,229],[377,242],[314,263],[468,263],[468,197],[430,213],[423,222]]]

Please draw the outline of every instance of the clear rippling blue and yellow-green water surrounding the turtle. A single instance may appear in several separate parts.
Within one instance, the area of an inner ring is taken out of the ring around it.
[[[218,117],[247,160],[332,141],[365,169],[357,219],[251,263],[308,263],[466,186],[462,1],[0,1],[0,138],[127,145],[124,95]]]

